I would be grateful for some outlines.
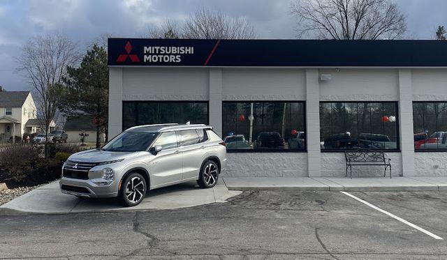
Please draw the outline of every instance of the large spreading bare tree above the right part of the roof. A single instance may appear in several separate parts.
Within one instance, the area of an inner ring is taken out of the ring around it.
[[[406,16],[389,0],[296,0],[291,13],[299,38],[396,39],[406,31]]]

